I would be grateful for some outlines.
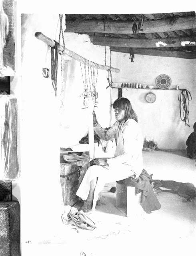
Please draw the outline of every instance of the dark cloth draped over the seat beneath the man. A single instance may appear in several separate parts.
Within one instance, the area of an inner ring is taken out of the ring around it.
[[[126,185],[136,188],[136,194],[142,193],[141,206],[145,212],[151,213],[151,211],[158,210],[161,208],[160,202],[158,201],[152,186],[150,184],[150,175],[146,170],[142,170],[140,176],[136,179],[133,177],[126,178],[124,180],[117,181],[120,185]]]

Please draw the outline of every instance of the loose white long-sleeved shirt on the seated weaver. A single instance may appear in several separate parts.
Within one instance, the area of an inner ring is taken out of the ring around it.
[[[139,124],[134,119],[128,119],[116,121],[109,130],[97,124],[94,130],[103,140],[115,138],[117,141],[114,157],[107,159],[109,167],[129,165],[130,170],[138,177],[143,170],[143,136]]]

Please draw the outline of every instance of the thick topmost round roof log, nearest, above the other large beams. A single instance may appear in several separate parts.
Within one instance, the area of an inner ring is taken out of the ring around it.
[[[66,21],[66,30],[64,32],[75,33],[114,33],[114,34],[132,34],[133,21],[115,21],[107,20],[104,30],[104,21],[100,20],[83,20],[83,21]],[[174,30],[195,29],[195,16],[179,17],[172,23],[171,18],[165,20],[144,21],[143,31],[137,33],[156,33]]]

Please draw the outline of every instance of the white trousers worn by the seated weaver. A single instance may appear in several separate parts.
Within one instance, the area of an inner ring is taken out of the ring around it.
[[[109,168],[108,165],[101,166],[101,165],[93,165],[88,168],[84,178],[76,192],[76,196],[82,198],[82,200],[86,200],[88,198],[88,194],[90,191],[90,182],[95,178],[98,178],[97,184],[94,190],[94,199],[93,199],[93,206],[92,210],[95,210],[96,202],[98,200],[99,193],[103,190],[104,185],[106,183],[124,180],[132,175],[131,166],[126,164],[120,164],[115,168]]]

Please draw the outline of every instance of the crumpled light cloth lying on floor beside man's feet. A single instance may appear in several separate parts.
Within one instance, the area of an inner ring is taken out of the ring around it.
[[[64,214],[62,214],[61,218],[65,225],[74,225],[87,230],[96,228],[95,223],[88,216],[69,205],[64,207]]]

